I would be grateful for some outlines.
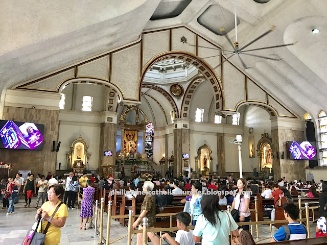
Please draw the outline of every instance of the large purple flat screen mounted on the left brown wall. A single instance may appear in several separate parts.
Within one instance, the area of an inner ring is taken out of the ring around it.
[[[0,120],[0,149],[43,149],[44,125]]]

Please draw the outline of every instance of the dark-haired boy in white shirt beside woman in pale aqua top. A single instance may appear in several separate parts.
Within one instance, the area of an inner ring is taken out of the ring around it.
[[[162,234],[163,241],[168,240],[172,245],[195,245],[193,238],[193,230],[189,230],[188,226],[191,223],[191,216],[186,212],[179,212],[176,215],[176,223],[179,231],[176,233],[175,240],[168,234]]]

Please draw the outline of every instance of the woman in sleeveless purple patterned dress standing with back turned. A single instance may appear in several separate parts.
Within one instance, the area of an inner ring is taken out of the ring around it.
[[[89,217],[93,215],[93,209],[92,209],[92,204],[93,204],[93,194],[96,192],[96,189],[91,187],[92,181],[87,180],[86,181],[87,187],[83,188],[83,201],[82,201],[82,206],[81,206],[81,226],[79,229],[86,230],[85,226],[87,223],[87,220]],[[86,219],[85,225],[83,226],[83,219]]]

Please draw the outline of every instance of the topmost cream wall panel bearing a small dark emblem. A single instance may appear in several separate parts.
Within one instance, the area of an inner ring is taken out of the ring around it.
[[[180,28],[174,28],[171,30],[172,32],[172,51],[174,50],[182,50],[182,51],[187,51],[193,54],[196,54],[196,34],[193,32],[189,31],[188,29],[184,27]],[[192,44],[188,45],[186,43],[182,43],[180,41],[181,37],[185,37],[188,40],[188,43]]]

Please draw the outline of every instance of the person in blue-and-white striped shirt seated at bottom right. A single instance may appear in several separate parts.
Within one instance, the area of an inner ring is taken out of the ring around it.
[[[282,226],[278,231],[271,237],[270,242],[285,241],[285,240],[299,240],[307,238],[307,230],[305,226],[297,222],[299,208],[293,203],[284,203],[284,216],[288,221],[287,226]],[[285,230],[289,228],[289,232]],[[287,235],[290,234],[289,237]]]

